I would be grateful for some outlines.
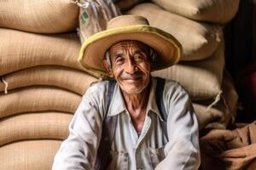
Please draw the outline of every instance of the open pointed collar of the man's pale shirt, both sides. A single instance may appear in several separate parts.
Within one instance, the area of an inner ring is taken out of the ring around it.
[[[149,90],[149,99],[148,99],[146,113],[148,114],[148,112],[151,111],[155,113],[157,116],[159,116],[161,120],[163,120],[155,101],[156,82],[157,82],[156,78],[151,77],[151,82],[150,82],[151,86]],[[121,93],[121,89],[119,88],[118,83],[116,83],[113,91],[113,98],[108,109],[108,116],[116,116],[124,111],[127,111],[125,100],[123,98],[123,95]]]

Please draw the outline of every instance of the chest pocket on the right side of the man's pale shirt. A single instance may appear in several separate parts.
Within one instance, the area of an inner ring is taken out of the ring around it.
[[[149,148],[149,154],[151,158],[151,163],[153,167],[156,167],[160,161],[163,161],[165,159],[165,146],[162,146],[160,148]]]

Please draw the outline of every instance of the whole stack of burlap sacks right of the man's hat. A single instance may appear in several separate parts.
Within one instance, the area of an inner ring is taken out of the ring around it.
[[[234,17],[238,5],[239,0],[152,0],[125,12],[144,16],[151,26],[171,33],[182,43],[181,61],[153,72],[153,76],[183,85],[201,129],[226,128],[236,118],[238,97],[228,73],[224,74],[224,26],[220,24]]]

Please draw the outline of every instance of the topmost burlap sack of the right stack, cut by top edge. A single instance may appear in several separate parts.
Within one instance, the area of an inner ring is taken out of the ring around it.
[[[236,14],[240,0],[151,0],[172,13],[193,20],[224,24]]]

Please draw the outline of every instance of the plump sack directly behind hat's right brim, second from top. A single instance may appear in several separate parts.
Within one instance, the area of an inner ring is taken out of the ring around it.
[[[147,18],[150,26],[171,33],[183,45],[181,60],[206,59],[218,48],[220,26],[186,19],[165,11],[154,3],[142,3],[128,11]]]

